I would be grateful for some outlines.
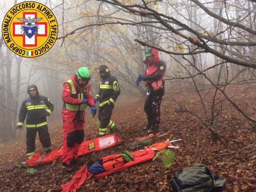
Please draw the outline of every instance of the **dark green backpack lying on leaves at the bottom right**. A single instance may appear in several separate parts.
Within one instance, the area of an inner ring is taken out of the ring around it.
[[[221,192],[224,183],[205,165],[184,168],[171,179],[174,192]]]

